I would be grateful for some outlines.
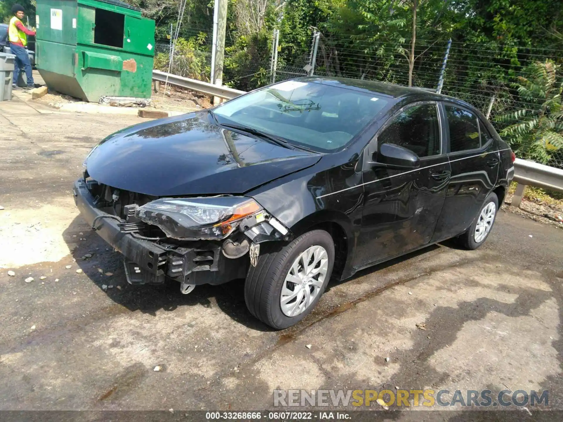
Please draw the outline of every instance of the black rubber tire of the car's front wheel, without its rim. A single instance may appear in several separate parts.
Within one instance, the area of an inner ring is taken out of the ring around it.
[[[282,312],[280,296],[282,285],[293,261],[313,245],[323,246],[328,255],[328,271],[319,294],[309,308],[294,317]],[[261,246],[262,249],[262,246]],[[244,301],[253,316],[276,330],[297,324],[305,318],[319,302],[327,287],[334,264],[334,241],[324,230],[312,230],[297,237],[291,243],[277,250],[260,251],[256,267],[248,270],[244,283]]]

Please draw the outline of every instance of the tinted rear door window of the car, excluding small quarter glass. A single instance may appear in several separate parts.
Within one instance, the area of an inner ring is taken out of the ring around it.
[[[450,152],[474,150],[481,147],[477,118],[469,111],[446,106],[450,127]]]

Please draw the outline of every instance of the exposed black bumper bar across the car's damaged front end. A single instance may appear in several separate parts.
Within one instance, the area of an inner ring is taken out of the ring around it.
[[[74,183],[73,196],[90,226],[101,217],[96,220],[97,234],[124,255],[127,281],[131,284],[162,284],[168,276],[190,285],[217,285],[246,275],[249,259],[225,258],[219,242],[186,241],[185,245],[168,247],[123,232],[118,221],[104,218],[111,214],[96,208],[96,199],[83,179]]]

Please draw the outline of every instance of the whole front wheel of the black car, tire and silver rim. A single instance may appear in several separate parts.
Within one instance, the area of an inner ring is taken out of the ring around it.
[[[280,250],[261,253],[244,284],[248,310],[278,330],[297,324],[319,302],[333,264],[334,241],[324,230],[312,230]]]

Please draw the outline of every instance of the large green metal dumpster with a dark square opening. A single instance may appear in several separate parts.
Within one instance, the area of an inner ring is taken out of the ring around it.
[[[35,65],[47,87],[84,101],[150,98],[154,21],[119,0],[37,0]]]

